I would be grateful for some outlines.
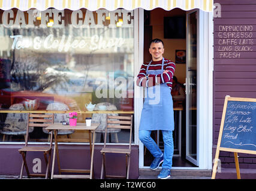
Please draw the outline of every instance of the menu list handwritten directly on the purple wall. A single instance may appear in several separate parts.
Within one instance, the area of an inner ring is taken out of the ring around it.
[[[243,53],[254,51],[252,25],[219,25],[217,35],[219,58],[240,58]]]

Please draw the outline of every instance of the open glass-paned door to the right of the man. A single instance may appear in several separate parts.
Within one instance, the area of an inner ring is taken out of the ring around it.
[[[196,10],[186,13],[186,159],[198,166],[197,16]]]

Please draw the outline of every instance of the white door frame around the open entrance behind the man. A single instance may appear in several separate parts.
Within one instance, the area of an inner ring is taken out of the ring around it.
[[[136,11],[138,10],[138,11]],[[134,79],[143,63],[144,10],[134,10]],[[212,169],[213,135],[213,13],[198,11],[198,167],[173,169]],[[205,64],[207,63],[207,64]],[[138,139],[138,127],[143,107],[143,90],[134,84],[135,144],[139,146],[139,168],[144,167],[143,143]]]

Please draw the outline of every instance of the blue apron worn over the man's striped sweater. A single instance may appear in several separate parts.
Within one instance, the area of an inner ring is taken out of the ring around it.
[[[146,75],[164,72],[164,58],[161,70],[149,71],[151,62],[147,66]],[[173,99],[166,83],[146,88],[139,130],[174,130]]]

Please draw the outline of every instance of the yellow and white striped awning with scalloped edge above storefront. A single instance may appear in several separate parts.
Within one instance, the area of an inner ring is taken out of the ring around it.
[[[209,12],[213,10],[213,0],[0,0],[0,9],[2,10],[18,8],[26,11],[30,8],[37,8],[37,10],[43,11],[50,7],[58,10],[86,8],[90,11],[99,8],[106,8],[109,11],[117,8],[124,8],[125,10],[134,10],[135,8],[143,8],[144,10],[154,8],[192,10],[199,8]]]

